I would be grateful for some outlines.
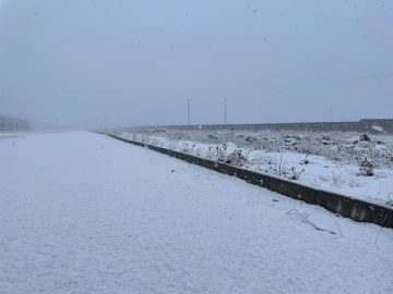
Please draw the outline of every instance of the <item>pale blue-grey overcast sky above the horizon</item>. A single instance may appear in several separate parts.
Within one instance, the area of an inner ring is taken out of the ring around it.
[[[390,0],[0,0],[0,115],[71,127],[392,118]]]

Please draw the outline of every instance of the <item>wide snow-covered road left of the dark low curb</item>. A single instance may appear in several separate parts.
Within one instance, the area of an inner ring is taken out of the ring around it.
[[[0,140],[1,293],[392,293],[379,231],[102,135]]]

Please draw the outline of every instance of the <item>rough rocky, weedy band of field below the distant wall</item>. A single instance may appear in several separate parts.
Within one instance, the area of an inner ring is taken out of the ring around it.
[[[153,127],[138,128],[133,133],[145,136],[143,132],[146,132],[148,135],[152,128]],[[391,142],[390,136],[385,135],[372,138],[370,134],[359,134],[356,132],[326,132],[323,134],[306,134],[305,132],[264,132],[255,134],[250,132],[234,132],[227,137],[223,137],[223,134],[224,132],[212,132],[209,135],[209,133],[202,134],[201,132],[172,131],[169,128],[167,133],[159,134],[159,136],[169,137],[171,139],[175,138],[175,140],[190,139],[193,142],[199,140],[204,144],[214,144],[214,147],[209,149],[207,154],[210,158],[221,158],[221,162],[224,162],[227,159],[228,154],[231,154],[239,147],[247,147],[250,149],[252,148],[252,150],[265,150],[266,152],[286,150],[305,154],[305,156],[306,154],[310,154],[312,156],[323,156],[332,160],[333,158],[341,158],[343,162],[357,164],[359,168],[361,159],[367,157],[369,160],[376,162],[374,169],[377,169],[377,167],[388,169],[393,168],[393,142]],[[364,140],[360,140],[360,137]],[[322,138],[324,142],[322,142]],[[225,146],[223,145],[224,142],[230,142],[230,145],[228,144],[228,146]],[[219,150],[216,149],[216,146],[219,146]],[[189,150],[192,150],[191,145],[189,146]],[[193,150],[193,152],[201,154],[198,149]],[[364,172],[361,172],[361,174],[362,173]]]

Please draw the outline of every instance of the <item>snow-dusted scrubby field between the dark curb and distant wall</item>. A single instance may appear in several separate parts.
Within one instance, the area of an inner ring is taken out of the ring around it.
[[[393,135],[370,135],[370,142],[360,142],[362,134],[348,133],[152,130],[115,134],[223,162],[241,150],[245,160],[231,164],[393,207]],[[359,170],[365,162],[372,164],[373,175]]]

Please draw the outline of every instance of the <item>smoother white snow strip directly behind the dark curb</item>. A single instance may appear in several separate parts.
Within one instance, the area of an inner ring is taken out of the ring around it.
[[[233,142],[207,144],[199,143],[198,140],[174,139],[164,137],[163,134],[158,136],[123,133],[120,136],[126,139],[131,138],[143,142],[144,144],[151,144],[211,160],[218,160],[218,158],[222,157],[218,156],[216,148],[222,149],[225,143],[227,145],[227,155],[230,155],[236,149],[242,150],[242,154],[248,158],[248,162],[242,167],[245,169],[286,180],[289,179],[305,186],[338,193],[355,199],[388,206],[389,208],[393,206],[393,173],[390,168],[376,168],[373,176],[360,176],[358,166],[327,159],[322,156],[307,156],[306,154],[288,150],[283,150],[277,154],[277,151],[259,150],[253,147],[239,148]],[[392,137],[384,136],[383,140],[389,142],[388,139],[392,139]],[[352,139],[354,140],[355,138],[356,137],[353,137]],[[391,142],[389,142],[389,144],[391,144]],[[320,148],[331,148],[331,146],[321,144]],[[379,145],[379,148],[383,149],[386,148],[386,146]],[[303,164],[306,158],[309,162],[308,164]],[[270,170],[272,167],[277,168],[278,164],[282,164],[283,170],[286,170],[285,174],[278,175]],[[294,175],[291,168],[295,168],[295,171],[298,172],[299,179],[290,179],[290,176]]]

